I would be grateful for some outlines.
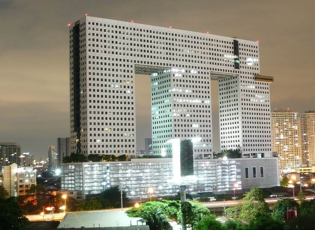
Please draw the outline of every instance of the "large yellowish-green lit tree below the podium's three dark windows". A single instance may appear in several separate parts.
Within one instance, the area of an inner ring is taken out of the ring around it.
[[[226,209],[230,217],[245,221],[250,221],[258,213],[270,213],[270,210],[264,193],[257,187],[250,189],[238,205]]]

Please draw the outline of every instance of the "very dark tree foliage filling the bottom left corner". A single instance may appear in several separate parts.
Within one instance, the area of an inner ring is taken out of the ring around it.
[[[25,229],[29,224],[15,197],[0,198],[0,229]]]

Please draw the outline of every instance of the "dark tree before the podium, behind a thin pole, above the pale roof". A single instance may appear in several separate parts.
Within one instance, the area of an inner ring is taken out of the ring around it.
[[[104,209],[121,207],[121,191],[118,186],[112,186],[104,190],[97,198]],[[123,207],[129,207],[130,200],[123,191]]]

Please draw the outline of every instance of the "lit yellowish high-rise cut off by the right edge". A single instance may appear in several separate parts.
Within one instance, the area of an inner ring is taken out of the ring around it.
[[[315,166],[315,111],[301,113],[301,146],[303,167]]]

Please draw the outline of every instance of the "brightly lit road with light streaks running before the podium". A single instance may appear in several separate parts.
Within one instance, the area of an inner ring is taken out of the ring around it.
[[[284,199],[284,198],[291,198],[293,197],[283,197],[283,198],[266,198],[265,201],[269,204],[275,204],[278,200]],[[307,196],[306,200],[314,199],[314,196]],[[298,200],[296,197],[295,200]],[[203,206],[207,208],[219,208],[219,207],[230,207],[235,206],[239,203],[239,200],[226,200],[226,201],[212,201],[212,202],[203,202]],[[129,208],[123,208],[123,210],[128,210]],[[119,211],[121,209],[103,209],[103,210],[95,210],[95,211],[88,211],[88,212],[103,212],[103,211]],[[57,221],[62,220],[65,214],[63,212],[61,213],[54,213],[54,214],[45,214],[43,215],[27,215],[26,218],[29,221]]]

